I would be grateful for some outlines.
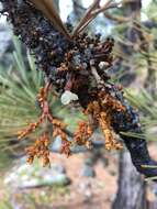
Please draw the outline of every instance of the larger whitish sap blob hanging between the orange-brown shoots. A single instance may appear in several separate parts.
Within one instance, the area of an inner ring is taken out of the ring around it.
[[[63,95],[61,95],[61,103],[63,105],[68,105],[70,103],[71,101],[76,101],[78,100],[78,96],[76,94],[72,94],[71,91],[69,90],[66,90]]]

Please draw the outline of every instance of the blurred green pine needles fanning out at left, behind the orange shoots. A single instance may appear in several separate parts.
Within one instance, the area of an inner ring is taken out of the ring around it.
[[[44,85],[44,75],[42,70],[36,70],[33,56],[29,52],[26,57],[23,55],[21,43],[16,37],[13,38],[13,44],[14,62],[9,68],[0,65],[0,160],[2,160],[0,166],[10,154],[19,155],[25,145],[31,143],[31,140],[19,142],[16,133],[38,118],[41,108],[36,96]],[[49,97],[49,102],[55,117],[65,119],[65,123],[74,130],[77,121],[81,120],[81,113],[64,107],[53,95]]]

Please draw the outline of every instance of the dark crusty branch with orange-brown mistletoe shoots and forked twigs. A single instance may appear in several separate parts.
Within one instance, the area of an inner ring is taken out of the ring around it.
[[[150,160],[145,140],[122,135],[121,132],[134,131],[141,133],[137,112],[123,97],[120,85],[110,81],[108,70],[112,67],[114,46],[113,38],[101,40],[100,34],[88,35],[87,25],[100,13],[117,7],[109,0],[100,7],[100,0],[94,0],[83,18],[74,29],[64,24],[56,12],[52,0],[0,0],[3,6],[1,13],[8,16],[13,25],[14,34],[26,45],[35,56],[37,69],[45,73],[45,87],[40,89],[37,99],[41,107],[38,120],[19,132],[19,139],[27,136],[42,124],[44,132],[35,143],[26,148],[29,163],[34,157],[49,164],[52,138],[61,139],[61,153],[70,155],[71,145],[90,146],[90,136],[100,129],[105,139],[105,148],[121,150],[122,143],[115,140],[117,133],[128,148],[133,164],[146,176],[157,175],[157,169],[144,168],[142,165],[156,165]],[[78,124],[72,140],[68,140],[65,124],[54,118],[47,97],[57,92],[63,103],[77,102],[86,121]],[[48,125],[53,127],[53,133]]]

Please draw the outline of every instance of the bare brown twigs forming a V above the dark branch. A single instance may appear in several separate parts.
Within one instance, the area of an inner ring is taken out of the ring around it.
[[[76,35],[81,33],[88,24],[101,12],[104,12],[112,8],[117,8],[120,3],[115,3],[114,0],[109,0],[104,6],[100,6],[101,0],[94,0],[90,8],[85,13],[78,25],[75,28],[72,34],[70,34],[65,28],[60,16],[56,12],[54,1],[52,0],[31,0],[31,2],[41,10],[45,16],[52,21],[54,26],[65,35],[66,38],[75,38]]]

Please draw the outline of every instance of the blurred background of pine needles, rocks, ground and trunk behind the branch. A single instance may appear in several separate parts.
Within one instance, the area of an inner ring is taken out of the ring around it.
[[[55,0],[64,22],[74,25],[92,0]],[[104,3],[105,0],[102,0]],[[119,2],[119,1],[117,1]],[[101,13],[88,32],[115,40],[112,80],[139,114],[150,155],[157,160],[157,0],[122,0],[120,8]],[[60,139],[51,146],[51,168],[36,161],[25,163],[24,147],[16,132],[37,119],[36,94],[43,75],[34,58],[13,35],[5,16],[0,18],[0,209],[157,209],[157,185],[144,179],[132,165],[130,154],[106,152],[100,133],[91,151],[59,154]],[[5,88],[7,87],[7,88]],[[82,118],[54,96],[53,112],[70,131]],[[135,135],[135,133],[125,133]]]

